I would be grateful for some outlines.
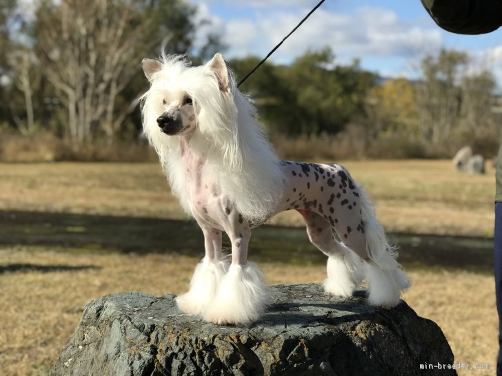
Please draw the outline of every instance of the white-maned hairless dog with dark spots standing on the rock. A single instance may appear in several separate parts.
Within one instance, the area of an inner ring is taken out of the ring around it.
[[[190,289],[177,297],[181,311],[217,324],[258,320],[268,289],[248,262],[251,229],[285,210],[301,213],[310,241],[328,256],[326,292],[350,297],[365,279],[370,304],[399,303],[408,277],[344,167],[279,160],[221,54],[197,67],[177,55],[143,59],[142,66],[150,81],[141,98],[143,132],[205,240]],[[221,255],[223,231],[232,244],[230,265]]]

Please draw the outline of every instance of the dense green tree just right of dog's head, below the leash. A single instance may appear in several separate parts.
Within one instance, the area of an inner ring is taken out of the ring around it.
[[[257,58],[232,61],[237,74],[249,72]],[[289,66],[262,65],[243,84],[259,107],[261,119],[274,132],[290,136],[337,133],[364,116],[364,98],[374,74],[359,62],[335,65],[331,50],[307,52]]]

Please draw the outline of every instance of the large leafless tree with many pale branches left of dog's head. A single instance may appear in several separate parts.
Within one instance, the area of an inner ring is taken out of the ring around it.
[[[41,70],[66,108],[71,140],[85,142],[99,132],[108,139],[117,134],[137,105],[134,97],[117,111],[117,96],[139,73],[141,58],[172,28],[178,39],[166,46],[168,52],[190,44],[191,12],[178,0],[41,3],[34,28]]]

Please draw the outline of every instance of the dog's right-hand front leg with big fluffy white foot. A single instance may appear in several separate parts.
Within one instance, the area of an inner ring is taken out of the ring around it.
[[[248,222],[237,215],[229,221],[227,233],[232,242],[232,264],[203,318],[217,324],[248,324],[265,311],[268,291],[263,273],[248,262]]]

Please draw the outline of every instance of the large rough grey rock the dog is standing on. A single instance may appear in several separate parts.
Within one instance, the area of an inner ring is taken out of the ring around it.
[[[100,297],[50,375],[456,375],[439,326],[405,302],[387,311],[363,289],[350,299],[319,284],[270,290],[267,313],[247,327],[183,315],[174,295]]]

